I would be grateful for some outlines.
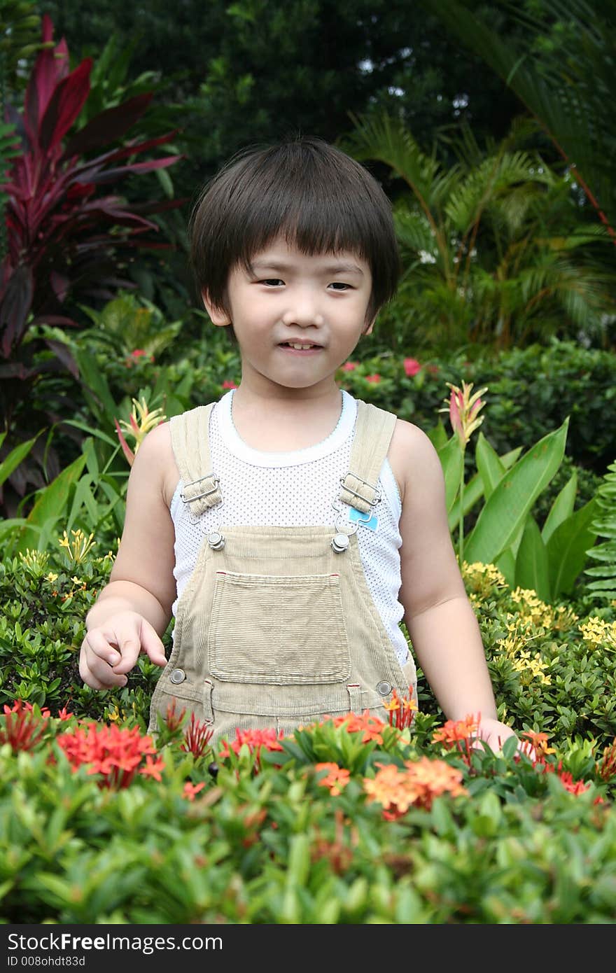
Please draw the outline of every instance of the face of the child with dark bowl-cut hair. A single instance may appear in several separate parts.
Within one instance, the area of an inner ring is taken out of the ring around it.
[[[216,325],[233,323],[242,383],[265,379],[294,389],[326,389],[374,321],[368,264],[356,254],[302,253],[278,237],[229,275],[230,313],[203,301]]]

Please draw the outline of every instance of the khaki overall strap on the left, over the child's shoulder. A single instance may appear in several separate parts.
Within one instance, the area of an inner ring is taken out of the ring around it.
[[[209,452],[209,416],[213,407],[211,402],[169,420],[171,446],[182,480],[180,499],[190,504],[195,516],[223,499]]]

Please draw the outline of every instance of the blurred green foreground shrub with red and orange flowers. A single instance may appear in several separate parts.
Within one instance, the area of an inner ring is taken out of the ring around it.
[[[16,706],[0,718],[0,919],[613,921],[616,747],[535,738],[531,759],[463,730],[325,721],[196,753],[183,727],[156,750],[136,728]]]

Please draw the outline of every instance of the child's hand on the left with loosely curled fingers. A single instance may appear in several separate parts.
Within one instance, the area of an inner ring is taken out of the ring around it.
[[[126,673],[141,652],[157,666],[166,666],[163,642],[150,623],[137,612],[119,612],[87,633],[79,656],[79,674],[92,689],[126,686]]]

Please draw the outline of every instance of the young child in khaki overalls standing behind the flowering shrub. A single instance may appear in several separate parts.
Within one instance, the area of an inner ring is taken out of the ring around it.
[[[481,739],[499,748],[514,731],[496,719],[438,455],[336,383],[398,280],[379,184],[318,139],[250,150],[205,188],[191,240],[241,380],[138,450],[82,678],[124,686],[140,652],[165,667],[152,732],[174,700],[215,738],[366,708],[384,719],[394,690],[417,698],[404,619],[447,718],[481,714]]]

